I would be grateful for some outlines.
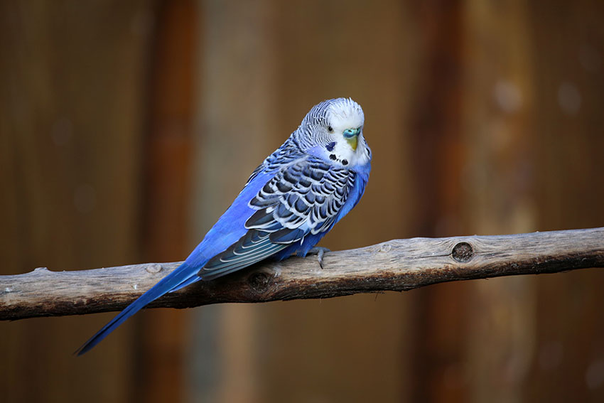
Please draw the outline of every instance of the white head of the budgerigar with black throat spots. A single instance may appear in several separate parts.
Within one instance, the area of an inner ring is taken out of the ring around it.
[[[308,154],[346,168],[364,166],[371,160],[364,123],[360,104],[337,98],[315,105],[293,136]]]

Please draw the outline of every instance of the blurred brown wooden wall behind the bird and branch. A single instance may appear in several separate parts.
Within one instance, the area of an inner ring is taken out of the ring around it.
[[[1,274],[184,259],[313,104],[321,245],[604,226],[602,1],[1,1]],[[604,272],[0,323],[4,402],[603,402]]]

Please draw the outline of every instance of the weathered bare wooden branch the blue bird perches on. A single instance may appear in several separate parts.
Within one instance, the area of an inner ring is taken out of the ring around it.
[[[45,268],[0,276],[0,319],[119,311],[174,263],[133,264],[75,272]],[[259,264],[163,296],[151,307],[189,308],[222,302],[330,298],[406,291],[445,281],[604,267],[604,227],[519,235],[392,240],[314,256]]]

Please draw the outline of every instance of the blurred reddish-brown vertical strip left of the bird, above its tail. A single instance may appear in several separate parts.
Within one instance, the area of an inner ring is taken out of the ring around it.
[[[150,61],[143,211],[144,261],[183,260],[192,186],[195,51],[193,0],[158,1]],[[190,311],[140,313],[136,389],[142,402],[184,400]]]

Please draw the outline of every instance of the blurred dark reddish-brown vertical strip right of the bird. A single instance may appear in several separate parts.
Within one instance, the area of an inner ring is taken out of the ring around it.
[[[463,230],[460,203],[465,158],[461,117],[463,1],[424,1],[417,22],[418,72],[411,102],[414,236]],[[463,345],[469,284],[443,284],[412,293],[414,348],[409,359],[411,402],[465,402]]]

